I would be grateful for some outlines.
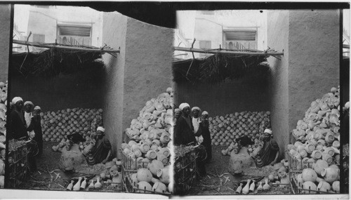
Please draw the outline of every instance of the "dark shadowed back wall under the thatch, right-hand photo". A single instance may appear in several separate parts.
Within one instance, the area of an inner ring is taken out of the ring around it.
[[[221,84],[176,83],[176,105],[187,102],[190,107],[200,107],[210,116],[242,111],[268,111],[270,85],[267,76],[246,76]]]

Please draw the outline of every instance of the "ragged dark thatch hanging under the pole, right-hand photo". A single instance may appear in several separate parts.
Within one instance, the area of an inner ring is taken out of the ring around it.
[[[269,71],[267,55],[230,55],[217,53],[195,60],[175,60],[173,80],[219,83],[225,79],[238,79],[246,75],[263,76]],[[190,67],[191,65],[191,67]]]

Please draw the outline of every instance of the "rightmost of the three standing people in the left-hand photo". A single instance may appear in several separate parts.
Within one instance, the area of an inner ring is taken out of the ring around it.
[[[34,138],[38,145],[38,156],[43,154],[43,131],[41,129],[41,116],[40,116],[41,108],[39,106],[34,107],[34,112],[32,116],[32,120],[30,121],[30,125],[27,128],[27,131],[34,131]]]

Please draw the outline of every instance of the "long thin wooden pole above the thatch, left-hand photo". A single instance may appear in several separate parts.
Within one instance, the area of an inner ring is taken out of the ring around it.
[[[27,46],[36,46],[40,48],[60,48],[60,49],[72,50],[72,51],[86,51],[86,52],[96,52],[96,53],[120,53],[119,50],[112,50],[112,49],[82,48],[77,46],[61,46],[61,45],[55,45],[55,44],[39,44],[37,42],[20,41],[17,39],[13,39],[13,43],[27,45]]]

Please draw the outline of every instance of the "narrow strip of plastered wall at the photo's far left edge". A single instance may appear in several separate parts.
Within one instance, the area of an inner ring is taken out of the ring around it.
[[[8,80],[11,10],[9,4],[0,5],[0,81]]]

